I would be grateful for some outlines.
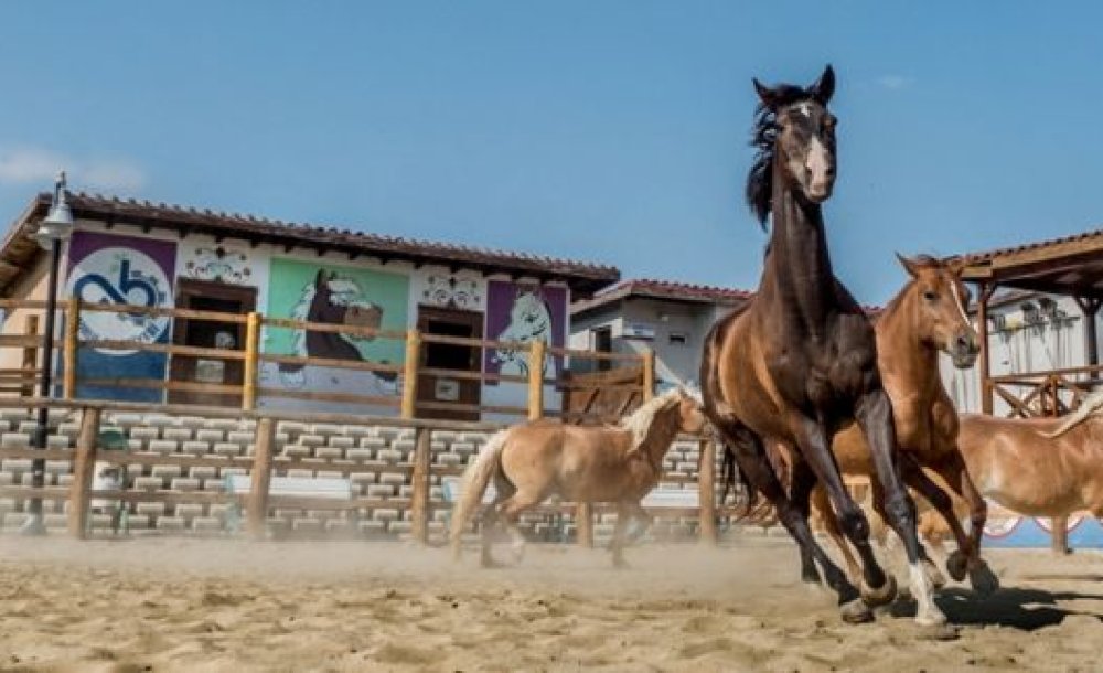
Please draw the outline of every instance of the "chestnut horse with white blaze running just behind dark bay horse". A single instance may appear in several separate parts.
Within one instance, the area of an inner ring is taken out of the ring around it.
[[[957,552],[946,562],[950,575],[961,581],[967,571],[978,592],[990,594],[999,583],[981,558],[987,505],[970,479],[957,449],[957,413],[939,373],[940,351],[950,355],[954,366],[968,368],[979,350],[976,331],[965,313],[970,296],[961,280],[962,264],[956,259],[941,261],[928,256],[900,257],[900,263],[910,276],[909,282],[876,319],[875,332],[877,366],[892,400],[903,478],[945,519],[957,541]],[[844,473],[874,474],[869,447],[857,428],[839,431],[832,444],[832,452]],[[921,468],[939,474],[967,503],[972,523],[970,535],[963,530],[951,498]],[[881,490],[876,481],[871,484],[874,510],[884,519]],[[857,562],[838,530],[822,487],[816,488],[813,499],[828,534],[846,559],[850,576],[857,577]],[[925,557],[924,564],[930,564]],[[932,583],[942,584],[933,566],[928,566],[928,571]]]

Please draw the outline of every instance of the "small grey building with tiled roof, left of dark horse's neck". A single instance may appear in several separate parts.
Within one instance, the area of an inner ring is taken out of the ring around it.
[[[632,279],[571,306],[572,348],[655,353],[655,381],[698,387],[705,336],[752,292],[665,280]],[[591,367],[608,366],[595,361]],[[578,371],[578,370],[574,370]]]

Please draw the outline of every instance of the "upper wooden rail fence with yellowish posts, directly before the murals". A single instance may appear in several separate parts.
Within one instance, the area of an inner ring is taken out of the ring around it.
[[[45,310],[45,302],[36,300],[0,299],[0,309],[11,313],[12,311],[39,311]],[[409,329],[403,331],[382,330],[368,327],[352,324],[331,324],[320,322],[309,322],[302,320],[291,320],[286,318],[269,318],[258,312],[250,312],[244,316],[236,313],[225,313],[217,311],[205,311],[181,308],[151,308],[132,305],[93,305],[81,302],[76,298],[69,298],[60,302],[57,311],[64,316],[64,331],[58,345],[60,363],[64,374],[61,382],[61,397],[63,399],[75,399],[78,387],[98,387],[116,389],[153,389],[162,392],[168,396],[170,393],[192,393],[199,395],[232,395],[240,398],[240,409],[250,412],[258,407],[259,399],[295,399],[311,402],[332,402],[342,404],[356,404],[374,407],[392,407],[398,412],[399,417],[405,419],[428,415],[432,412],[458,412],[468,414],[502,414],[517,417],[538,418],[543,416],[564,415],[566,409],[548,409],[545,405],[545,386],[552,385],[561,387],[570,385],[566,372],[564,376],[544,376],[543,366],[529,366],[528,375],[502,374],[482,371],[458,371],[442,370],[426,366],[424,362],[425,346],[429,344],[447,344],[453,346],[465,346],[478,349],[479,362],[484,361],[484,353],[488,349],[500,349],[520,351],[526,353],[529,363],[543,363],[547,355],[561,357],[566,362],[568,359],[578,360],[606,360],[614,363],[640,368],[643,372],[642,380],[632,380],[622,383],[609,383],[604,386],[606,393],[621,391],[624,396],[647,399],[654,392],[655,374],[653,355],[650,352],[635,353],[604,353],[596,351],[583,351],[568,348],[549,346],[543,341],[532,342],[507,342],[492,341],[485,339],[468,339],[460,336],[447,336],[440,334],[421,333],[418,330]],[[227,323],[232,325],[244,325],[245,338],[237,349],[215,349],[184,345],[180,343],[147,343],[139,340],[113,340],[113,339],[86,339],[81,334],[78,325],[81,316],[89,312],[109,312],[116,316],[149,316],[164,317],[172,321],[170,329],[175,329],[178,320],[188,321],[210,321]],[[0,394],[15,394],[25,397],[31,394],[33,383],[39,375],[35,365],[41,352],[42,335],[39,334],[38,316],[26,314],[28,321],[24,329],[19,334],[0,335],[0,350],[17,348],[23,352],[21,367],[7,367],[0,370]],[[61,320],[57,321],[62,323]],[[289,355],[261,352],[261,334],[265,330],[307,330],[315,333],[336,333],[345,336],[381,340],[398,340],[405,342],[405,359],[401,365],[364,362],[357,360],[343,360],[332,357],[317,357],[303,355]],[[9,328],[10,331],[10,328]],[[167,359],[192,357],[204,359],[222,363],[242,363],[242,383],[203,383],[196,381],[180,381],[172,377],[172,363],[165,367],[163,378],[136,378],[136,377],[78,377],[79,357],[82,352],[89,349],[106,349],[119,351],[140,351],[148,353],[163,353]],[[274,386],[260,385],[260,368],[265,363],[291,366],[322,366],[345,371],[366,371],[376,374],[392,375],[400,378],[401,395],[367,395],[354,391],[298,391],[286,389]],[[478,381],[480,383],[510,382],[527,385],[527,399],[524,405],[488,405],[488,404],[464,404],[460,402],[425,400],[418,399],[419,376],[447,376],[457,381]],[[610,415],[603,412],[575,413],[571,421],[586,420],[609,420]]]

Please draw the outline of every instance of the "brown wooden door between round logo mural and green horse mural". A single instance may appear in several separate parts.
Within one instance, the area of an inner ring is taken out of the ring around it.
[[[181,278],[176,288],[176,308],[246,316],[257,307],[257,289],[210,280]],[[172,342],[180,345],[245,350],[245,323],[196,318],[176,318]],[[169,391],[169,402],[216,406],[242,406],[240,393],[219,391],[219,385],[242,385],[245,361],[217,356],[173,355],[170,367],[173,382],[192,384],[189,389]],[[202,385],[210,387],[203,391]]]

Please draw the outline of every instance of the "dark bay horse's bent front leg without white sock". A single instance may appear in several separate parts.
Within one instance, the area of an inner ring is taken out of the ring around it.
[[[823,482],[843,533],[861,558],[861,597],[869,606],[890,602],[896,597],[896,579],[885,574],[874,556],[869,545],[869,521],[843,485],[835,456],[828,449],[827,434],[822,424],[811,418],[803,418],[797,430],[801,452]]]

